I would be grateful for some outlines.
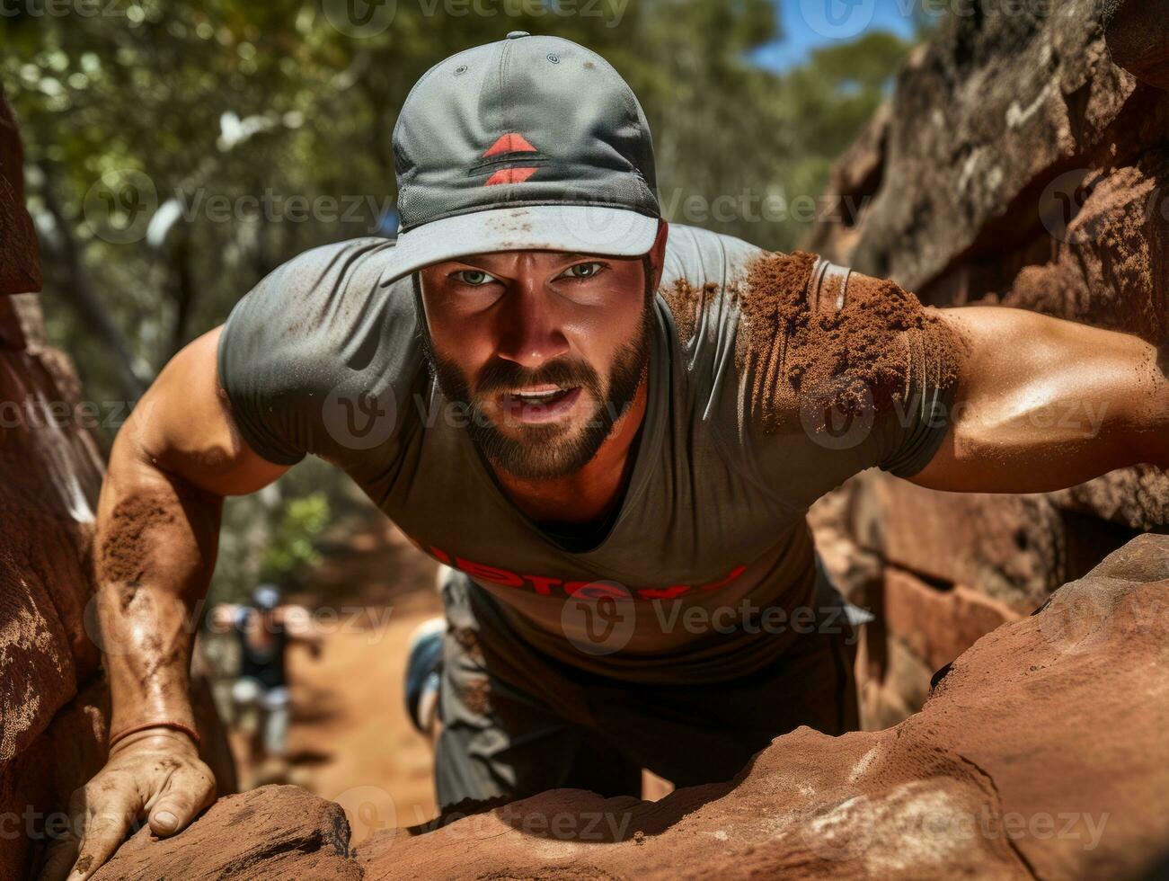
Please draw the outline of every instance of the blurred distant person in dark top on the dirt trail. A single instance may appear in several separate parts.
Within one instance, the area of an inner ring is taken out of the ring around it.
[[[216,606],[212,626],[233,631],[238,641],[240,675],[231,686],[231,703],[248,735],[251,765],[260,769],[261,779],[282,777],[290,701],[285,653],[290,642],[299,642],[319,658],[321,634],[304,606],[282,606],[279,589],[271,584],[251,592],[250,606]]]

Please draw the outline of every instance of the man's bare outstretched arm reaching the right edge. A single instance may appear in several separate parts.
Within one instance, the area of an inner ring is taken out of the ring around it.
[[[1169,467],[1165,346],[1018,309],[948,309],[962,337],[949,429],[913,477],[1042,493],[1140,462]]]

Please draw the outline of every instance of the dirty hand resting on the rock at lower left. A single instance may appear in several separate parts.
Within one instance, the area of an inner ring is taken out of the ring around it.
[[[131,825],[148,817],[165,838],[215,800],[215,777],[189,737],[151,728],[120,741],[105,768],[72,793],[64,838],[49,848],[41,881],[84,881],[110,859]]]

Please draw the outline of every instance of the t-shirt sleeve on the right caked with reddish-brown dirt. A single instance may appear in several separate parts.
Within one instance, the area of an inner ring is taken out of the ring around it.
[[[961,343],[895,283],[772,255],[745,283],[736,332],[742,439],[791,503],[872,467],[912,477],[940,447]]]

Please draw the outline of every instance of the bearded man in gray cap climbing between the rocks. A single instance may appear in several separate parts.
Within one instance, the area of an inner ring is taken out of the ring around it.
[[[394,151],[396,246],[276,270],[118,435],[96,555],[113,734],[76,796],[77,877],[134,818],[168,835],[213,800],[184,610],[222,497],[307,453],[452,567],[443,805],[636,794],[643,766],[725,779],[796,725],[852,725],[851,628],[804,511],[862,469],[1040,491],[1169,463],[1169,381],[1140,339],[922,310],[810,255],[667,228],[645,117],[580,46],[517,33],[442,62]],[[1099,419],[1032,418],[1063,404]]]

